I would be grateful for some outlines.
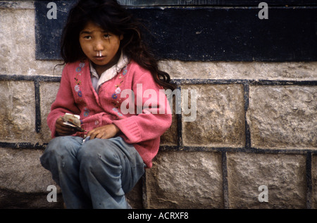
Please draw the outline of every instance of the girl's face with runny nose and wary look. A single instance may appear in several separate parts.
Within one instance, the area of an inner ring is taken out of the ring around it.
[[[118,49],[123,35],[106,32],[98,25],[88,22],[80,32],[80,46],[87,58],[94,63],[97,72],[107,70],[118,61]]]

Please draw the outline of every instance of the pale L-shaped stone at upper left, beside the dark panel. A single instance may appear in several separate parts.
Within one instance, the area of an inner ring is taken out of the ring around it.
[[[33,3],[0,8],[0,75],[61,75],[60,60],[35,60]]]

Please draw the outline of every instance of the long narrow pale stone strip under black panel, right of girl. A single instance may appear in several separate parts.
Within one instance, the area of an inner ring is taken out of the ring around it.
[[[163,60],[161,70],[178,79],[291,79],[316,80],[317,62],[193,62]]]

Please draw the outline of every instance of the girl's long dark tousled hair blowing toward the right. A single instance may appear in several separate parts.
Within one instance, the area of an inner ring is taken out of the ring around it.
[[[91,21],[108,32],[120,35],[120,49],[142,68],[149,70],[154,81],[166,89],[175,89],[168,73],[159,70],[157,60],[142,40],[142,23],[116,0],[80,0],[70,10],[61,38],[64,63],[86,58],[79,42],[80,31]]]

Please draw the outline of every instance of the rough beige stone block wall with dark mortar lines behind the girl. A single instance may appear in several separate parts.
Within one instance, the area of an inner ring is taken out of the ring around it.
[[[0,208],[63,208],[59,189],[46,200],[55,183],[39,164],[63,67],[35,60],[32,1],[0,2],[0,39]],[[317,208],[317,62],[160,66],[197,91],[197,116],[173,115],[132,207]]]

